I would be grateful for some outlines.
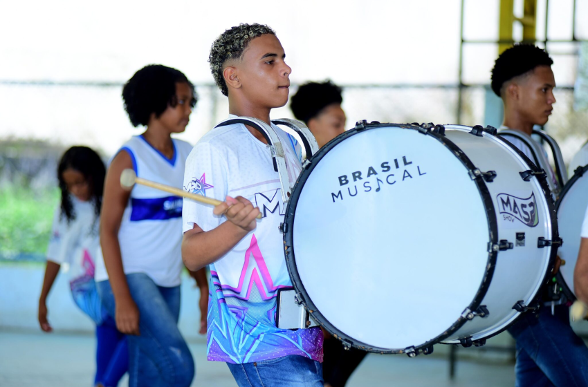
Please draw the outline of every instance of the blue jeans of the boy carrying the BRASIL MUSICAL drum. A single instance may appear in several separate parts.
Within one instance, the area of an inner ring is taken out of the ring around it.
[[[227,363],[239,387],[322,387],[322,364],[288,355],[253,363]]]

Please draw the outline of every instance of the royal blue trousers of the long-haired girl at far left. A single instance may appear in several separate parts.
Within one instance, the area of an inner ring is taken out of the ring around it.
[[[96,377],[94,385],[116,387],[129,369],[127,337],[118,332],[114,320],[106,314],[102,324],[96,326]]]

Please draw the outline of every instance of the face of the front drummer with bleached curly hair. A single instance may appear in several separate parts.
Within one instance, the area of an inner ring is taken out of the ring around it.
[[[252,107],[277,108],[288,102],[290,73],[284,48],[275,35],[254,38],[235,62],[242,93]]]

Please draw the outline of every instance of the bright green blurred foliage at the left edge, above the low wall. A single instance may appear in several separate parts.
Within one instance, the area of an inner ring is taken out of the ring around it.
[[[34,191],[21,187],[0,190],[0,258],[45,254],[59,189]]]

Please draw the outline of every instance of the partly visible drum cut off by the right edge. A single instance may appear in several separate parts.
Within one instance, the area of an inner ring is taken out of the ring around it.
[[[569,301],[576,299],[576,294],[573,290],[573,270],[576,267],[576,261],[578,261],[580,232],[587,207],[588,165],[576,169],[555,205],[558,211],[560,237],[564,240],[564,244],[558,249],[558,256],[565,261],[557,275],[558,283],[560,283],[562,292]]]

